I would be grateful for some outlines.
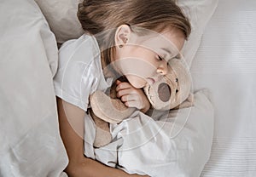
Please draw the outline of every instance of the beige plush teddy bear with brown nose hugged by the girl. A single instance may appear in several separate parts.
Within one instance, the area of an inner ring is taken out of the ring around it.
[[[121,80],[121,82],[123,82]],[[193,106],[193,94],[190,93],[191,77],[186,63],[182,59],[169,61],[168,72],[159,81],[143,88],[151,108],[167,111]],[[104,93],[96,90],[90,95],[90,116],[96,124],[96,137],[93,146],[106,146],[111,142],[109,123],[120,123],[137,109],[127,107],[119,100],[115,92],[116,84]]]

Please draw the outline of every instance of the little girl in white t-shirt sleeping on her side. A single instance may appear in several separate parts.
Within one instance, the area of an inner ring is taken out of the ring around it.
[[[89,96],[105,91],[113,77],[118,97],[129,107],[146,112],[143,93],[167,71],[168,61],[179,57],[189,37],[189,20],[172,0],[84,0],[79,21],[85,34],[61,46],[54,78],[61,138],[67,150],[69,176],[141,176],[127,174],[84,157],[84,117]]]

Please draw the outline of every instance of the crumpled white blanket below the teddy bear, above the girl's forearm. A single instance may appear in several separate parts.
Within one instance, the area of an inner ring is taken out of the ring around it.
[[[154,112],[155,113],[155,112]],[[111,126],[113,141],[94,149],[95,124],[85,117],[85,155],[130,174],[152,177],[199,176],[210,156],[213,108],[203,92],[195,106],[155,120],[140,111]],[[191,165],[193,164],[193,165]]]

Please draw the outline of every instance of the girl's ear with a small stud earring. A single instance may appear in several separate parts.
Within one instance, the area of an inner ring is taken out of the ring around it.
[[[131,37],[131,28],[128,25],[121,25],[115,32],[115,43],[117,46],[124,46]]]

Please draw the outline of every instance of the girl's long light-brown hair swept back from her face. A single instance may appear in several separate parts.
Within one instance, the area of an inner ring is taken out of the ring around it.
[[[113,29],[121,25],[156,32],[176,27],[185,39],[191,31],[189,20],[173,0],[84,0],[79,3],[78,18],[84,31],[96,37],[102,50],[102,66],[113,59]]]

